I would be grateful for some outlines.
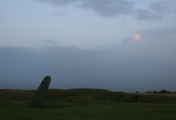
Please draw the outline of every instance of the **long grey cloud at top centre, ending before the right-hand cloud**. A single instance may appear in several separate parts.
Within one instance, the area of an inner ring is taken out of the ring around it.
[[[74,5],[77,8],[91,10],[100,16],[114,17],[131,13],[134,2],[128,0],[38,0],[55,7]]]

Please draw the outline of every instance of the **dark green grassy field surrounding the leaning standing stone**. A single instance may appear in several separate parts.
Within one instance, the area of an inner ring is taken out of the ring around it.
[[[0,90],[0,120],[176,120],[176,94],[99,89],[49,90],[45,108],[32,108],[34,90]]]

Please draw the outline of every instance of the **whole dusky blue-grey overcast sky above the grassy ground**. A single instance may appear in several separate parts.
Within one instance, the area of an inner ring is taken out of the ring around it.
[[[58,89],[176,91],[175,13],[176,0],[0,0],[0,87],[50,75]]]

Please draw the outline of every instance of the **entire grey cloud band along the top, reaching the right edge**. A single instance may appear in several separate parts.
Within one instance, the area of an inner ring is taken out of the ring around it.
[[[158,0],[145,4],[146,9],[137,6],[135,0],[37,0],[48,3],[54,7],[72,5],[79,9],[92,11],[103,17],[116,17],[119,15],[134,15],[139,20],[160,20],[166,16],[175,19],[176,1]],[[136,8],[135,8],[136,7]]]

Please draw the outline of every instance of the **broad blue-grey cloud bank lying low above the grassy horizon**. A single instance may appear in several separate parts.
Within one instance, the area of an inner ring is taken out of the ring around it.
[[[51,86],[59,89],[176,91],[176,43],[167,40],[172,32],[143,30],[138,32],[143,36],[142,44],[126,40],[121,45],[87,50],[64,46],[0,47],[0,83],[39,84],[50,75]]]

